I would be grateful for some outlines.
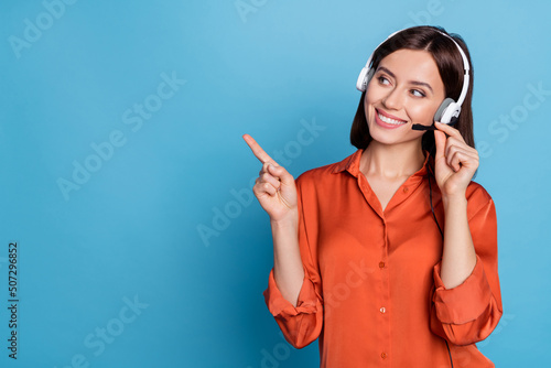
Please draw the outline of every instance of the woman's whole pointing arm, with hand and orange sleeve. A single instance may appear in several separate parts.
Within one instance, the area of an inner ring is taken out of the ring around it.
[[[323,325],[321,280],[312,261],[306,236],[300,180],[296,184],[250,137],[244,137],[262,162],[252,188],[270,216],[273,238],[273,270],[270,272],[266,304],[285,339],[296,348],[315,340]]]

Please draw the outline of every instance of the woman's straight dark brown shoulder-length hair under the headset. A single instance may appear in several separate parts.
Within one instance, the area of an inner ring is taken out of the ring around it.
[[[414,26],[397,33],[385,41],[374,52],[371,68],[376,71],[382,58],[401,48],[428,51],[436,62],[440,77],[444,83],[445,97],[457,100],[463,87],[463,76],[465,74],[463,58],[452,40],[440,32],[447,34],[443,28],[429,25]],[[471,66],[471,82],[467,95],[462,104],[460,118],[454,128],[461,132],[465,142],[474,148],[473,109],[471,107],[471,101],[473,99],[473,64],[471,63],[471,55],[463,39],[457,34],[450,34],[450,36],[457,42],[461,48],[463,48]],[[350,142],[357,149],[366,149],[371,141],[371,134],[369,133],[364,108],[365,96],[366,91],[361,94],[350,130]],[[423,134],[421,144],[423,150],[429,151],[433,158],[435,156],[436,147],[434,144],[433,131],[426,131]]]

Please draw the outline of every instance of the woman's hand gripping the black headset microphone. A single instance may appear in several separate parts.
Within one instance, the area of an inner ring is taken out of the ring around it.
[[[478,169],[478,151],[465,143],[457,129],[441,122],[435,122],[434,126],[437,129],[434,131],[434,175],[442,197],[464,197],[468,183]]]

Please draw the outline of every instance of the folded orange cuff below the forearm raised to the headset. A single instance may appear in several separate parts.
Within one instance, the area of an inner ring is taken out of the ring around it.
[[[434,266],[435,291],[432,297],[440,322],[465,324],[476,320],[488,307],[491,299],[491,290],[479,257],[476,256],[475,268],[468,278],[453,289],[445,289],[440,269],[441,262]]]

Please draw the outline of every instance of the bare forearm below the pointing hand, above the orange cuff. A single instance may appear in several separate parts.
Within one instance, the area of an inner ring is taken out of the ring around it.
[[[273,278],[281,295],[296,306],[304,280],[299,248],[298,215],[285,221],[271,221],[273,237]]]

